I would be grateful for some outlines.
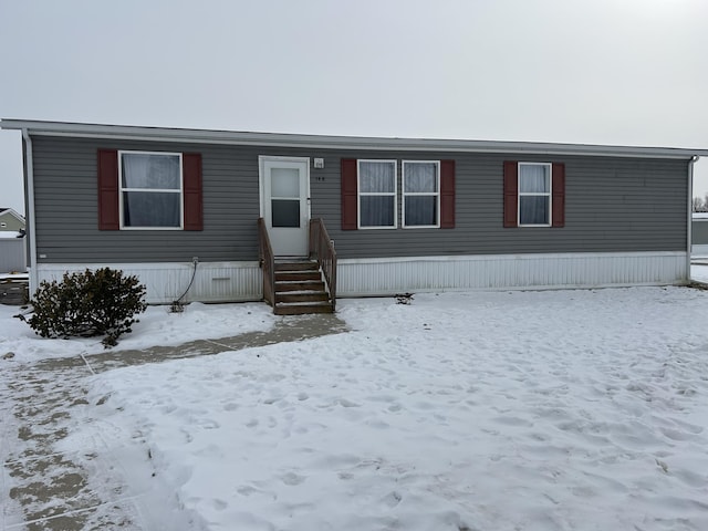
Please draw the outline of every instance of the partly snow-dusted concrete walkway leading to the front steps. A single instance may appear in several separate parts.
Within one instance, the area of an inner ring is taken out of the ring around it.
[[[92,490],[87,478],[110,481],[116,476],[112,470],[121,467],[105,451],[105,441],[98,438],[80,448],[67,448],[72,408],[88,405],[85,379],[93,374],[346,331],[344,322],[335,315],[303,315],[283,317],[268,332],[199,340],[173,347],[108,351],[32,364],[0,360],[1,369],[9,376],[7,396],[0,402],[2,530],[173,529],[167,522],[150,518],[146,499],[127,496],[123,485],[103,489],[113,492],[111,499],[102,499]],[[76,459],[79,456],[81,459]],[[188,516],[185,517],[188,529]]]

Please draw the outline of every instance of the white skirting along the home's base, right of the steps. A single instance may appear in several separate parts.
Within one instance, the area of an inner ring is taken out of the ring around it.
[[[337,261],[337,295],[687,282],[686,252],[418,257]]]

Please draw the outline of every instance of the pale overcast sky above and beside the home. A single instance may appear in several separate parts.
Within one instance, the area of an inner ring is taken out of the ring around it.
[[[0,117],[708,148],[706,0],[0,0]],[[24,212],[18,132],[0,181]]]

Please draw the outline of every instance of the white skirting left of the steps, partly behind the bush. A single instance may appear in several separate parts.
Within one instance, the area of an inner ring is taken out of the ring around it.
[[[150,304],[167,304],[179,298],[191,280],[194,266],[167,263],[43,263],[38,267],[39,282],[61,281],[64,272],[110,267],[135,274],[147,288]],[[37,287],[30,287],[34,292]],[[263,277],[258,262],[199,262],[195,280],[183,302],[258,301],[263,296]]]

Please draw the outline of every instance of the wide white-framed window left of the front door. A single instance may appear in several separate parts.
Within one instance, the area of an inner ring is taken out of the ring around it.
[[[122,229],[181,229],[180,153],[118,152]]]

